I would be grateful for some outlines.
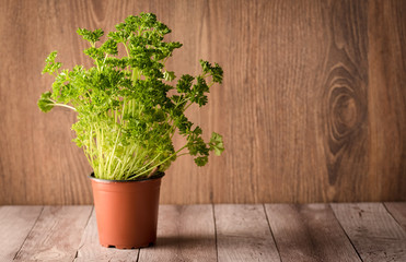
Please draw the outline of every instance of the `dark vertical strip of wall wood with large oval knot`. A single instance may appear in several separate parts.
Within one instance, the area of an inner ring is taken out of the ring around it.
[[[326,50],[320,86],[327,198],[362,201],[368,179],[368,2],[330,1],[323,13]],[[339,190],[337,190],[339,189]]]

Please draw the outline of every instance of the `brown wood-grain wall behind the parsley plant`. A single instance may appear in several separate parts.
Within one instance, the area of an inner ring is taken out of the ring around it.
[[[161,203],[406,200],[406,1],[0,0],[0,204],[92,203],[74,114],[37,109],[40,71],[53,50],[89,64],[76,29],[141,11],[184,44],[177,75],[225,72],[189,116],[227,150],[174,163]]]

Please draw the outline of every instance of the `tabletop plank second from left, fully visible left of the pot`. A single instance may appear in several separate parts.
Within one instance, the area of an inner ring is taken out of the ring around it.
[[[16,261],[73,261],[92,206],[45,206]]]

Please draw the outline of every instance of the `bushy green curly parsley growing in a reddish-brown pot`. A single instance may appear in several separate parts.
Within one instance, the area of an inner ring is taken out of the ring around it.
[[[77,112],[74,142],[93,168],[91,181],[102,246],[138,248],[156,238],[161,178],[171,163],[189,154],[198,166],[210,152],[220,155],[222,136],[209,142],[185,111],[208,102],[207,93],[221,83],[222,69],[200,60],[201,73],[176,79],[166,60],[182,44],[164,41],[171,29],[152,13],[128,16],[105,37],[102,29],[79,28],[90,43],[84,53],[94,66],[61,70],[57,52],[46,59],[43,73],[55,76],[51,92],[38,106],[47,112],[66,107]],[[119,53],[119,47],[124,53]],[[185,145],[175,148],[179,133]]]

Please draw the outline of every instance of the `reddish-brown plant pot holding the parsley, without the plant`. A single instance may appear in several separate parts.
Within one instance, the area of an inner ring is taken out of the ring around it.
[[[162,177],[140,181],[104,180],[90,176],[103,247],[130,249],[155,243]]]

